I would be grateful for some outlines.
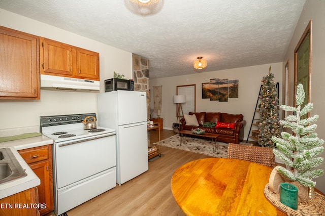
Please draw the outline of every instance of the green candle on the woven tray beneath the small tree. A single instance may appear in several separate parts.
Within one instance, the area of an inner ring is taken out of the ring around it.
[[[289,183],[280,184],[280,202],[290,208],[298,209],[298,188]]]

